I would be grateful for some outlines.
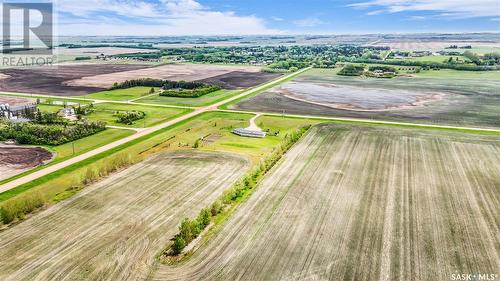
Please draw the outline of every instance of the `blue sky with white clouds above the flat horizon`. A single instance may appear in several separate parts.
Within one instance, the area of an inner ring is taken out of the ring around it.
[[[58,0],[55,7],[59,35],[500,32],[500,0]]]

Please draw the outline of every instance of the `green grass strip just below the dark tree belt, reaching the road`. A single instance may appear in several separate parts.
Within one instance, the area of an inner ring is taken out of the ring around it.
[[[144,97],[136,100],[138,103],[151,103],[151,104],[166,104],[176,106],[207,106],[218,101],[230,98],[241,91],[220,90],[198,98],[178,98],[178,97],[165,97],[158,95]]]

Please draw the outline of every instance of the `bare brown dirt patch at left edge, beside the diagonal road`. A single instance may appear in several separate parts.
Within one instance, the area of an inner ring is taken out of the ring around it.
[[[41,147],[0,144],[0,180],[13,177],[51,159],[52,153]]]

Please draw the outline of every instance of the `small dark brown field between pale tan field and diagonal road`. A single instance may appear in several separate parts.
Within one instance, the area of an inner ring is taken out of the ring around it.
[[[233,71],[200,81],[216,84],[224,89],[236,90],[255,87],[280,76],[279,73]]]

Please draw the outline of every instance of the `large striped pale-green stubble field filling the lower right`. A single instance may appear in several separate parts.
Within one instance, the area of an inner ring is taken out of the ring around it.
[[[499,184],[498,138],[320,126],[189,261],[151,279],[498,274]]]

